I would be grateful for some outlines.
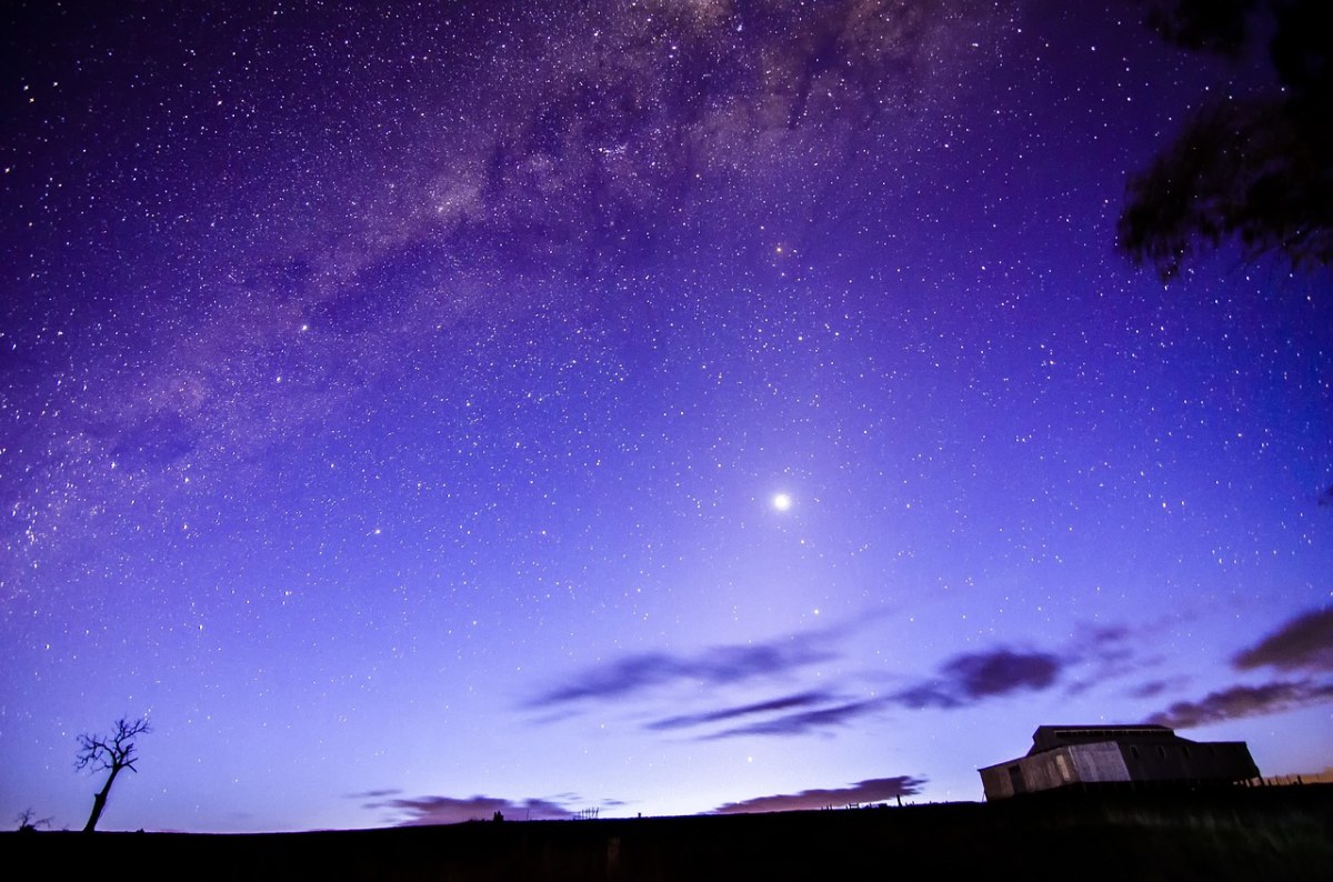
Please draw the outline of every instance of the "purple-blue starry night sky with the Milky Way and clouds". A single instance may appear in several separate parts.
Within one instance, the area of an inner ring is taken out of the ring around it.
[[[1077,9],[1074,9],[1077,7]],[[1333,765],[1333,281],[1125,185],[1129,0],[5,5],[0,817],[978,799]]]

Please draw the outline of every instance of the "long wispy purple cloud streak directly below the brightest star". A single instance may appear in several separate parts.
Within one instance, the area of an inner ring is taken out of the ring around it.
[[[533,698],[528,706],[553,707],[583,699],[620,699],[677,681],[722,686],[784,674],[834,657],[832,650],[817,645],[816,636],[809,634],[756,646],[714,646],[694,656],[643,653],[575,674],[567,683]]]

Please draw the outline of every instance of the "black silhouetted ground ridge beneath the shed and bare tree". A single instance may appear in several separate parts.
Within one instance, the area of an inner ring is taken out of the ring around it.
[[[327,833],[8,833],[9,869],[144,879],[1328,879],[1333,785]]]

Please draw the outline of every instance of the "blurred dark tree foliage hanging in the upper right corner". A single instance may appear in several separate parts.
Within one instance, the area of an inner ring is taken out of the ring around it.
[[[1148,23],[1185,48],[1237,59],[1258,15],[1272,20],[1273,85],[1201,108],[1130,180],[1118,244],[1162,280],[1201,249],[1333,264],[1333,40],[1326,0],[1153,0]]]

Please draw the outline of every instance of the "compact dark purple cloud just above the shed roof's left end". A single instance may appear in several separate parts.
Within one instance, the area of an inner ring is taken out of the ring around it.
[[[909,707],[961,707],[1026,689],[1052,686],[1065,663],[1050,653],[1020,653],[994,649],[954,656],[940,675],[897,693],[893,699]]]

